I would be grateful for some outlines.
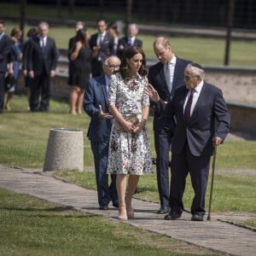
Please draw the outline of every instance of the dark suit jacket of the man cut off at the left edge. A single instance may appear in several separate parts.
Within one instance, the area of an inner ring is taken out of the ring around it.
[[[14,42],[6,34],[0,41],[0,73],[7,71],[7,64],[11,61],[11,45]]]

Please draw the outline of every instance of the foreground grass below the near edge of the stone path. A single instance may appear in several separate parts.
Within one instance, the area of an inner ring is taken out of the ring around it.
[[[0,188],[0,255],[217,255],[205,248]]]

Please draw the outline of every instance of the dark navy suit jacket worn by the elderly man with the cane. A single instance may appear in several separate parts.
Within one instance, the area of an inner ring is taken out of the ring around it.
[[[204,82],[201,94],[188,121],[184,120],[183,105],[188,94],[186,86],[175,91],[170,102],[158,103],[158,108],[167,117],[175,114],[177,126],[172,137],[172,154],[180,154],[186,141],[195,156],[211,156],[213,153],[212,137],[224,138],[230,128],[230,113],[218,87]]]

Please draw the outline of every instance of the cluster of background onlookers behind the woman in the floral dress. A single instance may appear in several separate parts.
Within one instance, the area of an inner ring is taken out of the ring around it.
[[[69,102],[72,114],[82,113],[85,83],[90,76],[94,78],[102,75],[102,63],[107,56],[117,55],[121,59],[125,49],[130,46],[143,47],[142,40],[136,38],[136,24],[127,27],[127,36],[123,38],[119,38],[118,26],[114,22],[97,20],[96,27],[97,32],[90,36],[84,22],[79,21],[75,27],[75,37],[69,40],[68,84],[71,85]]]

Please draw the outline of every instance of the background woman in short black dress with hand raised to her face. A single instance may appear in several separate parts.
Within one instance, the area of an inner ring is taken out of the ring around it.
[[[70,113],[83,112],[84,89],[90,79],[91,50],[88,36],[84,30],[79,30],[74,38],[73,49],[69,55],[70,74],[68,84],[71,85]]]

